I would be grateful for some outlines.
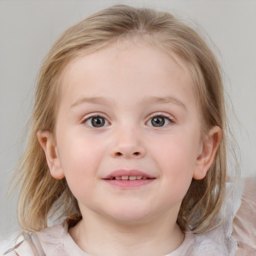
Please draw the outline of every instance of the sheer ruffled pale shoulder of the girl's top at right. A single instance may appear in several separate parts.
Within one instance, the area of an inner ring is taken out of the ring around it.
[[[195,249],[219,250],[216,255],[256,255],[255,213],[256,176],[243,177],[235,186],[227,183],[226,199],[219,212],[221,224],[196,237]]]

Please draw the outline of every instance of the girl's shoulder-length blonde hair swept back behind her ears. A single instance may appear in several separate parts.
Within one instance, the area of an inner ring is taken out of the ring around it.
[[[29,122],[26,148],[15,175],[22,182],[18,199],[18,220],[24,230],[39,231],[47,226],[49,213],[81,218],[76,198],[65,178],[54,179],[37,140],[39,130],[54,133],[61,73],[77,56],[97,50],[121,38],[144,38],[167,54],[184,59],[194,79],[202,131],[217,125],[223,137],[214,162],[201,180],[192,179],[177,217],[182,230],[190,225],[194,233],[212,227],[225,195],[226,115],[221,69],[211,49],[194,29],[168,12],[115,5],[99,11],[67,29],[53,44],[41,66]]]

